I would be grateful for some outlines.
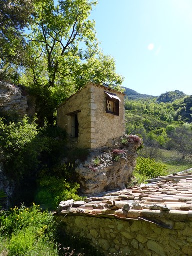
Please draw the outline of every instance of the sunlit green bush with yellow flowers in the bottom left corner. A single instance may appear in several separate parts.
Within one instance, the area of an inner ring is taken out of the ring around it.
[[[0,227],[1,240],[8,255],[58,255],[55,243],[56,223],[39,205],[30,208],[14,207],[3,219]],[[42,249],[46,249],[44,252]],[[46,254],[45,254],[46,252]]]

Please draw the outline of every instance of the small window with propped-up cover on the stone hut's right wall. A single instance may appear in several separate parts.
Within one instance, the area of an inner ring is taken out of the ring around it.
[[[120,98],[110,92],[105,92],[106,96],[106,113],[111,113],[114,115],[119,115],[119,102],[121,102]]]

